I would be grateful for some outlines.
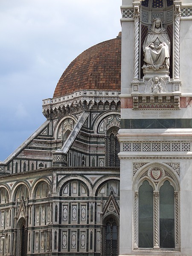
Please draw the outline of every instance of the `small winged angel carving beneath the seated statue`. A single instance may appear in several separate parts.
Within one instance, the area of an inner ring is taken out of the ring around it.
[[[158,76],[154,76],[153,78],[149,79],[144,93],[166,93],[168,92],[167,86],[165,81]]]

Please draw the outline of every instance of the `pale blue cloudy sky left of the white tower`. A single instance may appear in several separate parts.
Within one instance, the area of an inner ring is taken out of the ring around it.
[[[116,38],[121,0],[0,0],[0,161],[46,118],[64,70],[87,48]]]

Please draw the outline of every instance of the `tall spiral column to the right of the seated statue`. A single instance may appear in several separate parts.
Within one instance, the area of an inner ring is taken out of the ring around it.
[[[175,5],[174,78],[179,79],[180,5]]]

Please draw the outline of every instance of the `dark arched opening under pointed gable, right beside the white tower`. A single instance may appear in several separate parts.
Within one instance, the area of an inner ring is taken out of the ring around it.
[[[119,255],[119,221],[109,215],[103,222],[102,256]]]

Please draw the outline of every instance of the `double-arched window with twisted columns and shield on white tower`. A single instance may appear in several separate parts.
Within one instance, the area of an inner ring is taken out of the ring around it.
[[[134,250],[180,251],[178,174],[153,163],[134,176]]]

